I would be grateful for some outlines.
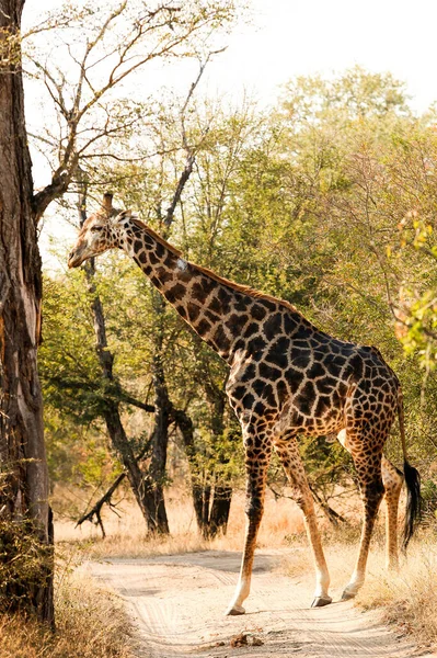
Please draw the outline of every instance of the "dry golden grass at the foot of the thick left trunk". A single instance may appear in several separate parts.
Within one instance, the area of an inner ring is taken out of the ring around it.
[[[120,600],[89,578],[64,572],[56,589],[56,633],[22,616],[0,616],[1,658],[131,658]]]

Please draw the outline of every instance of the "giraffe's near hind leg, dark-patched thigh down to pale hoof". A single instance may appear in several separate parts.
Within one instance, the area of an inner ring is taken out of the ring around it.
[[[342,600],[345,601],[353,599],[357,594],[366,576],[370,540],[379,506],[384,494],[381,472],[384,438],[373,436],[372,431],[368,429],[367,432],[360,432],[359,435],[355,435],[353,440],[350,440],[349,436],[346,438],[345,430],[342,430],[338,440],[350,452],[354,460],[364,507],[364,523],[359,542],[358,559],[352,578],[343,592]],[[369,455],[371,458],[369,458]]]

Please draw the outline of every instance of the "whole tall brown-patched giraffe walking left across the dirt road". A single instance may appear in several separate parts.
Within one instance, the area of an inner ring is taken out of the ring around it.
[[[376,348],[345,342],[317,329],[291,304],[233,283],[185,260],[130,211],[117,211],[112,194],[88,217],[69,268],[107,249],[120,248],[151,283],[229,364],[229,402],[242,429],[246,469],[246,531],[241,571],[227,614],[244,614],[256,535],[264,508],[269,458],[278,454],[294,498],[303,512],[315,567],[312,606],[331,603],[330,576],[298,435],[337,436],[350,453],[361,494],[364,522],[358,557],[343,600],[365,579],[369,544],[383,496],[387,563],[398,566],[398,502],[405,479],[404,546],[419,514],[419,476],[406,456],[402,393],[398,377]],[[382,454],[398,416],[404,473]]]

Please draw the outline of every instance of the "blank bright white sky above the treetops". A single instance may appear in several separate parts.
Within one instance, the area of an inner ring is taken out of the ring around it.
[[[229,37],[228,49],[208,66],[200,93],[226,93],[238,100],[246,91],[262,104],[273,104],[279,86],[294,76],[331,76],[358,64],[370,71],[391,71],[404,80],[417,112],[437,100],[437,0],[248,3],[253,11],[252,22],[240,25]],[[57,4],[58,0],[26,0],[25,24],[37,22],[43,9]],[[147,81],[185,93],[195,75],[196,67],[184,63],[153,72],[148,69]],[[31,112],[35,116],[35,107]],[[48,182],[48,172],[38,163],[34,174],[36,185]],[[46,256],[44,235],[42,251]]]

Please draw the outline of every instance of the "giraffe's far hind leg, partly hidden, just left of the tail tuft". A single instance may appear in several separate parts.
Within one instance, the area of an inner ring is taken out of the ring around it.
[[[398,507],[403,477],[384,456],[382,456],[381,468],[386,490],[386,565],[388,569],[398,569]]]

